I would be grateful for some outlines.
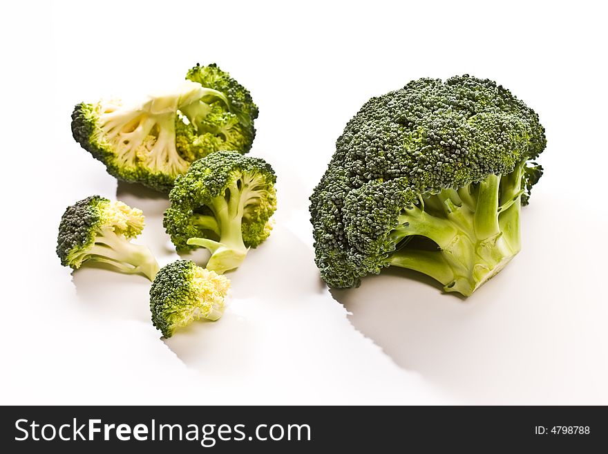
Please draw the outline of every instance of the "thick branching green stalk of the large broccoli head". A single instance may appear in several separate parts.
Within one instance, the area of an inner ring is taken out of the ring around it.
[[[470,296],[520,251],[522,169],[490,175],[477,185],[444,189],[405,209],[392,231],[395,244],[424,236],[438,249],[414,249],[408,243],[390,256],[390,265],[427,274],[446,292]]]

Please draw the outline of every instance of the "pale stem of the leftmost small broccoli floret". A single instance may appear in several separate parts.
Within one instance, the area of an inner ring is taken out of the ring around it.
[[[104,229],[88,249],[88,260],[106,263],[126,274],[143,274],[150,281],[158,273],[158,263],[148,247],[135,245],[112,229]]]

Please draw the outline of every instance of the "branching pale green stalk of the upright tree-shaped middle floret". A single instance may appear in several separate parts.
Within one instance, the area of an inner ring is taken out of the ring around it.
[[[256,205],[264,198],[267,198],[267,182],[259,174],[243,173],[227,187],[224,196],[211,200],[208,206],[214,216],[197,216],[197,225],[220,237],[219,241],[209,238],[187,240],[188,245],[209,249],[211,258],[207,269],[222,274],[243,263],[249,250],[243,242],[243,216],[246,216],[249,205]]]

